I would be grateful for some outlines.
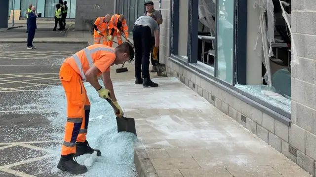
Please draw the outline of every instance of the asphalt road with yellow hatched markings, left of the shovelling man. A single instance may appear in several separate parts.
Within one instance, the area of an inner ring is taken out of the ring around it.
[[[61,145],[64,127],[51,125],[54,112],[42,108],[46,100],[39,93],[60,85],[63,60],[85,46],[38,43],[27,50],[25,43],[0,45],[0,177],[65,176],[52,173],[56,164],[50,161],[50,147]]]

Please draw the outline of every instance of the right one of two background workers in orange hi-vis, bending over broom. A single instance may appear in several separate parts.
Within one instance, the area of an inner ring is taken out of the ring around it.
[[[123,31],[125,34],[126,39],[128,38],[128,27],[126,24],[126,20],[124,15],[112,15],[111,20],[109,22],[109,41],[108,45],[112,47],[113,45],[113,38],[117,36],[118,44],[122,43],[122,35],[121,32]]]

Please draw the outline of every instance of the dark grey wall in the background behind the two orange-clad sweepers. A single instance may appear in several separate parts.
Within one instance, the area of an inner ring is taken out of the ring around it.
[[[114,14],[114,3],[114,0],[77,0],[75,30],[92,30],[97,17]]]

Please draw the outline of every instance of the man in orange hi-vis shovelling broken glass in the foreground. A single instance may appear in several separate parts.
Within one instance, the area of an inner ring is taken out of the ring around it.
[[[72,174],[83,174],[87,172],[87,168],[77,163],[75,157],[92,154],[94,151],[97,152],[97,156],[101,156],[101,151],[91,148],[86,141],[90,102],[82,81],[89,82],[99,93],[100,98],[112,99],[119,110],[116,114],[121,117],[123,111],[114,94],[110,66],[122,64],[133,58],[134,49],[128,42],[123,42],[116,48],[93,44],[67,58],[62,64],[59,78],[67,98],[67,122],[58,169]],[[97,79],[101,74],[105,88]]]

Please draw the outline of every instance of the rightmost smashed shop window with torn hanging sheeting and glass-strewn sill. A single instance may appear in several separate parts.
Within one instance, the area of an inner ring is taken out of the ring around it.
[[[291,2],[290,0],[284,1]],[[290,14],[290,6],[284,4],[286,3],[283,3],[282,6],[284,11]],[[247,83],[236,84],[235,87],[259,102],[276,107],[276,109],[272,109],[288,117],[291,113],[291,35],[289,27],[282,15],[283,10],[278,0],[273,1],[273,4],[259,4],[258,2],[257,5],[258,10],[252,12],[258,16],[262,25],[259,29],[260,33],[258,31],[258,39],[257,37],[251,38],[253,40],[251,42],[257,43],[259,46],[255,51],[259,60],[256,66],[247,64],[247,68],[256,67],[256,70],[247,71]],[[262,10],[263,8],[267,8],[267,10]],[[253,30],[259,28],[259,23],[251,24],[249,22],[249,25]],[[253,52],[253,48],[254,46],[249,46],[247,52]],[[247,63],[250,62],[249,60],[250,58],[247,59]],[[253,75],[259,76],[254,77]]]

